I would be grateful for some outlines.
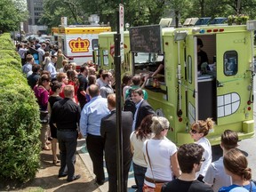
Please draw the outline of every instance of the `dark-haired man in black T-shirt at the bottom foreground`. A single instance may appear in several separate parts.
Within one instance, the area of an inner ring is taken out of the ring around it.
[[[162,192],[213,192],[212,188],[196,180],[204,162],[204,148],[196,143],[184,144],[177,152],[181,174],[177,180],[164,183]]]

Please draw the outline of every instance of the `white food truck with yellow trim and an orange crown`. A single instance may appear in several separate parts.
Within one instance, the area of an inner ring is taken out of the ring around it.
[[[68,26],[52,28],[54,39],[68,60],[76,62],[77,66],[88,60],[93,60],[92,51],[98,47],[98,36],[101,32],[111,31],[110,27],[102,26]]]

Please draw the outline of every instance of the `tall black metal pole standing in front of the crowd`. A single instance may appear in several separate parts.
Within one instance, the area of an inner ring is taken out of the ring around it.
[[[122,130],[122,88],[121,88],[121,55],[120,43],[121,35],[119,28],[119,12],[117,18],[117,34],[114,35],[115,41],[115,57],[114,63],[116,67],[116,173],[117,173],[117,191],[122,192],[124,188],[124,167],[123,167],[123,130]]]

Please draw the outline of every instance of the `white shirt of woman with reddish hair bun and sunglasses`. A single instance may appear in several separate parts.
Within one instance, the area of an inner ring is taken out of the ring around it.
[[[201,175],[205,175],[207,172],[207,169],[209,165],[212,163],[212,146],[205,137],[201,138],[200,140],[196,141],[196,144],[201,145],[204,148],[204,154],[203,157],[205,158],[205,161],[203,162],[201,169],[199,172],[196,172],[196,178]]]

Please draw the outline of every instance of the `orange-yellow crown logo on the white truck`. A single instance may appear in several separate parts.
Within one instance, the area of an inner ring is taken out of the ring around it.
[[[72,39],[68,43],[71,52],[89,52],[90,41],[88,39]]]

